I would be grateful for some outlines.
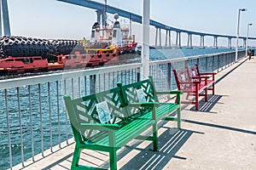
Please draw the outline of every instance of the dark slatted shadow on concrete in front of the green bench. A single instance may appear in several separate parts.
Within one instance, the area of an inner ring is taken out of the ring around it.
[[[172,128],[162,128],[166,128],[166,131],[159,137],[158,151],[151,150],[152,144],[143,149],[137,148],[136,145],[125,147],[125,150],[119,154],[119,159],[131,152],[131,150],[137,150],[139,153],[120,169],[163,169],[172,158],[187,159],[186,157],[176,156],[176,153],[193,133],[200,132],[180,129],[173,133]]]

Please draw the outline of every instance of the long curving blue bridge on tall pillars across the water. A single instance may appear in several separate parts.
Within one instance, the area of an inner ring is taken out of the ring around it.
[[[103,3],[97,3],[95,1],[90,0],[56,0],[62,3],[70,3],[73,5],[78,5],[84,8],[91,8],[96,9],[97,14],[97,21],[98,23],[106,23],[106,12],[109,14],[119,14],[119,16],[125,17],[132,22],[137,22],[142,24],[142,16],[138,14],[131,13],[129,11],[125,11],[124,9],[115,8],[112,6],[109,6],[107,4]],[[1,19],[0,19],[0,36],[9,36],[11,35],[10,26],[9,26],[9,9],[8,9],[8,3],[7,0],[1,0]],[[2,24],[2,18],[3,18],[3,24]],[[150,26],[153,26],[155,28],[155,46],[160,47],[170,47],[171,44],[171,34],[172,31],[176,33],[175,38],[175,48],[182,48],[182,35],[187,34],[187,48],[193,48],[195,44],[193,44],[193,37],[198,36],[200,37],[200,48],[205,48],[205,37],[212,37],[212,47],[218,48],[218,38],[223,37],[227,39],[227,48],[232,48],[232,39],[236,38],[236,36],[229,36],[229,35],[220,35],[220,34],[214,34],[214,33],[205,33],[205,32],[199,32],[199,31],[189,31],[189,30],[183,30],[179,28],[175,28],[172,26],[166,26],[163,23],[160,23],[156,20],[150,20],[149,21]],[[3,26],[2,26],[3,25]],[[165,38],[165,44],[162,44],[162,31],[166,32]],[[247,38],[249,40],[256,40],[256,37],[239,37],[239,39],[243,40],[242,47],[246,47]],[[198,46],[198,44],[196,44]]]

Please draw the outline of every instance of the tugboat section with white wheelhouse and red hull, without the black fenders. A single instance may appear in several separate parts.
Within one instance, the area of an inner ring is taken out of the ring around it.
[[[58,56],[58,61],[62,61],[65,69],[118,63],[125,61],[125,59],[137,57],[135,55],[137,42],[134,41],[134,36],[129,35],[130,30],[128,28],[121,28],[118,14],[114,14],[114,19],[113,26],[101,28],[98,22],[94,23],[90,42],[85,39],[80,41],[83,44],[84,53],[76,52],[75,54]]]

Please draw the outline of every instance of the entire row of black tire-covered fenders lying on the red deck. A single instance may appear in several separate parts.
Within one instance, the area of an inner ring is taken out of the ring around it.
[[[55,62],[59,54],[84,54],[83,44],[77,40],[46,40],[32,37],[10,36],[0,38],[0,59],[42,56]]]

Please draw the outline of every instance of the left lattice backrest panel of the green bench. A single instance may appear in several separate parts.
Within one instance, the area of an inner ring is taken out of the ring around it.
[[[76,142],[90,140],[95,133],[99,133],[96,130],[84,129],[84,127],[80,126],[80,123],[101,123],[96,111],[96,104],[103,101],[107,102],[112,119],[106,123],[119,123],[127,116],[127,112],[122,107],[124,103],[121,99],[119,88],[91,94],[79,99],[71,99],[66,95],[64,99]]]

